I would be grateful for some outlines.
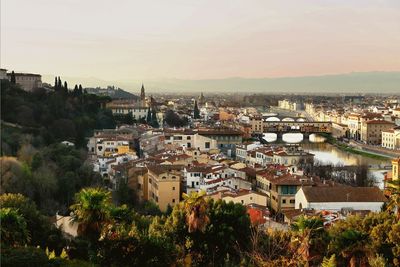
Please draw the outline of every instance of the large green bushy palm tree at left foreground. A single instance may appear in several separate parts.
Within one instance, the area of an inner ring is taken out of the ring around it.
[[[84,188],[75,195],[71,206],[72,221],[77,222],[78,235],[98,240],[102,226],[110,220],[111,193],[103,188]]]

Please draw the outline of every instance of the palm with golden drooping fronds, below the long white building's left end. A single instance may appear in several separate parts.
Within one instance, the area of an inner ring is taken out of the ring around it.
[[[291,225],[293,231],[292,244],[297,245],[297,254],[305,261],[306,266],[310,261],[321,257],[315,245],[323,244],[324,223],[318,217],[307,218],[301,216]]]

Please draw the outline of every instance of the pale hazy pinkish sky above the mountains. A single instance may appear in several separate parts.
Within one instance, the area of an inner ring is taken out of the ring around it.
[[[105,80],[400,70],[400,1],[1,0],[1,66]]]

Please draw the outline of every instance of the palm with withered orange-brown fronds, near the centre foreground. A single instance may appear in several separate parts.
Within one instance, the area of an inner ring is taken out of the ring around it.
[[[205,199],[205,192],[191,192],[190,195],[183,193],[184,208],[186,211],[186,222],[189,233],[204,231],[210,219],[207,216],[208,204]]]

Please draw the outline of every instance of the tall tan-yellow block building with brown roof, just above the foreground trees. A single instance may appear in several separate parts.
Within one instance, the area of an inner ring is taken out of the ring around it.
[[[175,165],[148,165],[148,200],[154,201],[161,211],[168,205],[179,203],[181,168]]]

